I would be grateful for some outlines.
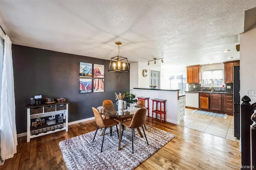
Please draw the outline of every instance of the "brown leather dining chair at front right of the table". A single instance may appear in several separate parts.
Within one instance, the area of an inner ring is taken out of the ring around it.
[[[136,113],[132,117],[132,120],[123,122],[123,125],[125,127],[131,129],[131,134],[132,134],[132,153],[133,153],[133,131],[134,131],[134,128],[142,127],[142,130],[144,132],[146,141],[148,143],[148,139],[146,137],[146,133],[145,133],[144,128],[142,126],[145,123],[145,121],[146,121],[146,113],[147,113],[147,109],[145,109],[145,108],[139,109],[138,111],[136,111]],[[124,129],[123,129],[123,131],[124,131]]]

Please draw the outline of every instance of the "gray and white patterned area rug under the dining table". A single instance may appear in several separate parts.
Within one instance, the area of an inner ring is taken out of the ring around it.
[[[116,127],[113,127],[112,136],[110,136],[110,128],[106,129],[102,152],[100,152],[101,130],[98,130],[93,143],[95,131],[63,140],[59,145],[66,167],[68,170],[133,170],[175,137],[174,134],[148,125],[146,128],[149,145],[145,137],[141,138],[135,130],[134,154],[132,154],[130,128],[124,130],[120,151],[118,151]],[[144,136],[142,128],[141,132]]]

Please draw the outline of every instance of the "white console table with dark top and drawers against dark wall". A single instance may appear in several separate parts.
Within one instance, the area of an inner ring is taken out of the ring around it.
[[[42,104],[40,106],[36,105],[26,105],[27,109],[27,142],[30,142],[31,138],[38,136],[43,136],[45,134],[50,134],[58,132],[61,130],[68,131],[68,102],[61,103],[50,103]],[[61,117],[62,116],[62,119]],[[59,118],[60,117],[60,122]],[[38,125],[32,125],[32,122],[36,122],[36,119],[44,119],[43,123],[38,123]],[[54,121],[55,119],[55,121]],[[48,123],[47,121],[52,121]],[[51,124],[51,125],[50,125]]]

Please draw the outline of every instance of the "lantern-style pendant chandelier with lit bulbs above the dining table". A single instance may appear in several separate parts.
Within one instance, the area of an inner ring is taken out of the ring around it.
[[[129,72],[130,69],[129,69],[127,58],[119,56],[119,45],[121,45],[122,43],[121,42],[115,42],[115,43],[116,45],[118,45],[118,55],[110,59],[108,71],[118,72],[118,73]]]

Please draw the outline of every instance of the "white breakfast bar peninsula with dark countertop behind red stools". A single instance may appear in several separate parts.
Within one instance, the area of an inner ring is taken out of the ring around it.
[[[184,95],[179,95],[180,89],[150,89],[150,88],[133,88],[132,92],[136,97],[150,97],[149,99],[149,116],[152,117],[152,99],[166,100],[166,122],[178,125],[183,120],[185,107]],[[155,109],[154,104],[154,109]],[[160,106],[158,105],[158,108]],[[162,107],[164,111],[164,107]],[[155,117],[155,113],[154,113]],[[160,114],[157,114],[160,119]],[[162,116],[162,121],[164,117]]]

